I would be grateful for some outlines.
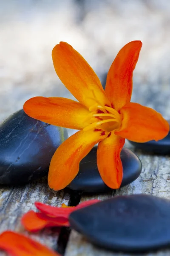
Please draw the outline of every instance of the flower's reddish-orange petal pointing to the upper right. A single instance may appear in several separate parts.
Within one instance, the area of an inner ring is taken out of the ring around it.
[[[105,93],[113,104],[113,108],[119,111],[130,102],[132,94],[132,76],[139,52],[141,41],[132,41],[126,44],[117,54],[108,72]]]

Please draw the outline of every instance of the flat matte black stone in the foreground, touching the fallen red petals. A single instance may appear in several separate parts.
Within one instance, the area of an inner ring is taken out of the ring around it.
[[[72,212],[69,221],[89,241],[110,250],[170,246],[170,201],[151,195],[111,198]]]

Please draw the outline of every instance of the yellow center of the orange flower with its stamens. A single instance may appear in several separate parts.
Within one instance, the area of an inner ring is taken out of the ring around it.
[[[121,125],[121,115],[114,109],[109,106],[102,106],[95,104],[89,108],[91,112],[85,121],[89,121],[90,124],[87,125],[83,130],[88,131],[94,129],[102,129],[104,131],[113,131],[120,127]],[[98,121],[96,121],[96,119]]]

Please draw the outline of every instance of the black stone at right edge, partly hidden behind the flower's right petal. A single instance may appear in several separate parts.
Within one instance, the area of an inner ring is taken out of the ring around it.
[[[146,152],[153,152],[156,154],[170,154],[170,132],[163,140],[151,140],[145,143],[137,143],[129,140],[136,149],[141,149]]]

